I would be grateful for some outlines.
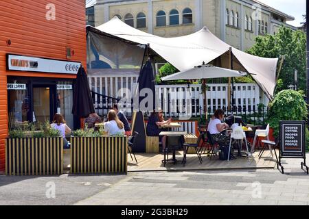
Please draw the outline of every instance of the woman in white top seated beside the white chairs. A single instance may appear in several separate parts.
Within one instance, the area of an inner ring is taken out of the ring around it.
[[[211,134],[214,142],[218,144],[228,145],[229,144],[229,136],[222,134],[221,132],[229,127],[227,123],[222,123],[225,116],[225,112],[222,109],[216,110],[214,113],[214,118],[211,118],[208,124],[208,131]]]

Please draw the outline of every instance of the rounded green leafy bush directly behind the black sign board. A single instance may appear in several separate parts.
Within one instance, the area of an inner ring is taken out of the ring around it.
[[[307,120],[308,110],[304,96],[295,90],[282,90],[269,105],[268,123],[279,135],[280,120]]]

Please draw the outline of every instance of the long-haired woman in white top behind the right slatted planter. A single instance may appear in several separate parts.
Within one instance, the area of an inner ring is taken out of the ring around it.
[[[111,110],[107,114],[108,122],[104,123],[104,131],[109,136],[124,135],[124,123],[119,120],[115,110]]]

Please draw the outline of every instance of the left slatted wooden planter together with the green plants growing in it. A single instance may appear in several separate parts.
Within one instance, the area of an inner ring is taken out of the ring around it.
[[[63,138],[49,122],[15,127],[5,140],[6,175],[61,175]]]

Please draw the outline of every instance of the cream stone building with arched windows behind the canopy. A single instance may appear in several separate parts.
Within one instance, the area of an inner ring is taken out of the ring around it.
[[[118,16],[122,21],[150,34],[176,37],[192,34],[204,26],[242,51],[256,36],[274,34],[293,16],[255,0],[97,0],[95,27]]]

